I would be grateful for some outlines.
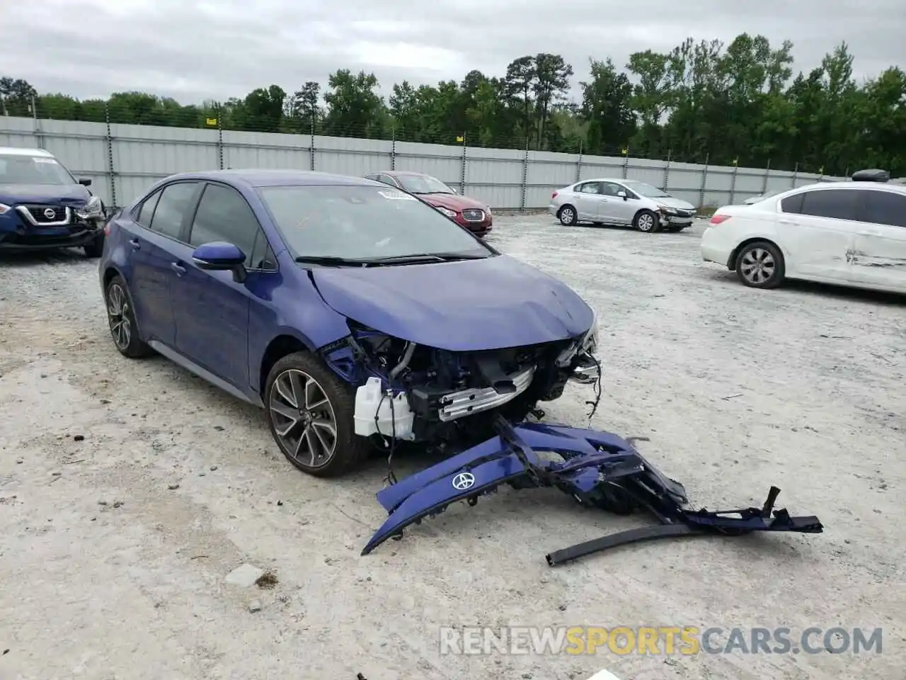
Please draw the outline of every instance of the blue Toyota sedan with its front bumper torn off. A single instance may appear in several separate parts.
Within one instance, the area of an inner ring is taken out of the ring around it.
[[[295,170],[161,180],[108,221],[122,355],[158,352],[265,410],[314,475],[377,445],[471,445],[600,380],[573,290],[409,193]]]

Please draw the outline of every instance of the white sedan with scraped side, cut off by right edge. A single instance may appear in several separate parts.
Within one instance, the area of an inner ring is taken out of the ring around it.
[[[860,177],[718,209],[701,257],[748,287],[798,278],[906,293],[906,186]]]

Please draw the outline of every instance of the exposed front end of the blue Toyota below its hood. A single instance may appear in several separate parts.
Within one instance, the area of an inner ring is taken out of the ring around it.
[[[559,398],[569,381],[595,384],[600,396],[596,318],[578,337],[480,352],[416,345],[349,325],[350,335],[324,347],[322,355],[358,385],[355,432],[379,445],[472,445],[493,433],[497,414],[521,422],[538,402]]]

